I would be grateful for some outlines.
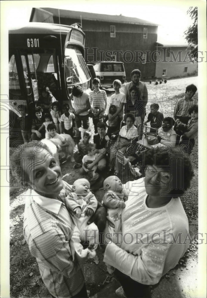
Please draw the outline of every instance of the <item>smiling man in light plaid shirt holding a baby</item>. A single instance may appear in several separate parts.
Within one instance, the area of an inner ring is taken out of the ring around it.
[[[21,152],[13,153],[10,164],[19,185],[27,189],[24,238],[36,257],[45,286],[52,297],[87,297],[79,264],[84,258],[75,254],[74,260],[71,251],[71,241],[82,249],[80,232],[66,208],[66,197],[72,193],[72,186],[62,180],[59,164],[41,142],[24,145]],[[97,208],[91,222],[97,214],[100,219],[96,221],[97,226],[103,230],[106,209]]]

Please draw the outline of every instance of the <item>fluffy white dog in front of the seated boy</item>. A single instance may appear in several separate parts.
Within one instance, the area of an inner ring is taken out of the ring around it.
[[[59,160],[64,157],[71,157],[71,162],[75,162],[73,157],[73,150],[75,148],[75,143],[72,137],[69,134],[61,134],[64,137],[65,141],[68,143],[67,147],[61,148],[61,151],[58,152],[57,145],[61,145],[62,142],[60,139],[52,138],[52,139],[42,139],[41,142],[47,145],[50,148],[52,154],[55,156],[55,159]]]

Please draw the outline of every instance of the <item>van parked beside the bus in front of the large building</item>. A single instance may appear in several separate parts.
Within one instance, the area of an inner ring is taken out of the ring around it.
[[[101,86],[105,88],[113,88],[113,81],[120,80],[122,84],[125,83],[126,74],[123,62],[102,61],[93,63],[96,77],[101,81]]]

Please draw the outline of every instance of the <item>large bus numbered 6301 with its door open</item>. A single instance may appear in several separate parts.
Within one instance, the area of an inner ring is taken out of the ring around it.
[[[84,60],[84,41],[85,34],[78,24],[31,22],[25,27],[9,30],[11,110],[17,113],[17,103],[23,103],[32,116],[43,86],[48,86],[60,103],[69,99],[74,85],[89,89],[90,73]]]

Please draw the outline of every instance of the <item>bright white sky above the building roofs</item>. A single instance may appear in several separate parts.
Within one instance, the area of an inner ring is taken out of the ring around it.
[[[54,7],[111,15],[122,14],[159,24],[158,38],[165,36],[170,40],[185,41],[183,32],[192,23],[190,16],[187,15],[187,10],[190,6],[198,5],[199,2],[202,2],[202,0],[184,0],[180,2],[158,0],[105,0],[103,2],[97,0],[3,1],[1,2],[1,12],[3,8],[3,18],[5,15],[7,16],[3,19],[3,22],[8,28],[28,22],[32,7]]]

